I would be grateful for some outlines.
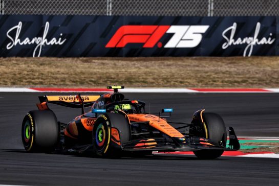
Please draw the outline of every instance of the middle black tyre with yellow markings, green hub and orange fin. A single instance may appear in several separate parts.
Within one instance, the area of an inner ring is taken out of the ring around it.
[[[119,113],[100,115],[92,132],[94,151],[101,157],[120,157],[121,144],[131,140],[130,125]]]

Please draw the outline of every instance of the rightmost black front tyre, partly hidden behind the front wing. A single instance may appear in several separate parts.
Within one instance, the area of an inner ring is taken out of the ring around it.
[[[207,130],[207,138],[222,147],[226,147],[227,131],[223,119],[216,113],[203,113],[203,120]],[[206,136],[204,136],[206,137]],[[218,158],[223,154],[224,150],[199,150],[194,151],[195,155],[201,159]]]

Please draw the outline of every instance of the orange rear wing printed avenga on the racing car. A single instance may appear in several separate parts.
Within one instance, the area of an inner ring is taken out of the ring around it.
[[[81,108],[84,112],[84,107],[90,107],[100,96],[97,95],[58,95],[58,96],[39,96],[40,103],[37,104],[39,110],[50,110],[48,103],[71,107]]]

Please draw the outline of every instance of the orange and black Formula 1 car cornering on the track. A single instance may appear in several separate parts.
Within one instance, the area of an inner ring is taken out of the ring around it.
[[[232,127],[226,146],[227,131],[220,115],[201,109],[190,123],[172,121],[172,108],[148,113],[145,102],[125,98],[118,91],[122,88],[109,86],[111,91],[102,95],[39,96],[38,110],[29,111],[22,123],[24,148],[27,152],[90,152],[101,157],[193,151],[202,159],[240,149]],[[81,115],[62,123],[49,104],[80,108]],[[87,107],[90,110],[84,112]]]

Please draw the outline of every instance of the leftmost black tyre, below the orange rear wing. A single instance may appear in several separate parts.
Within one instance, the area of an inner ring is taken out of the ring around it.
[[[22,123],[22,141],[27,152],[51,152],[59,137],[57,118],[50,110],[29,111]]]

